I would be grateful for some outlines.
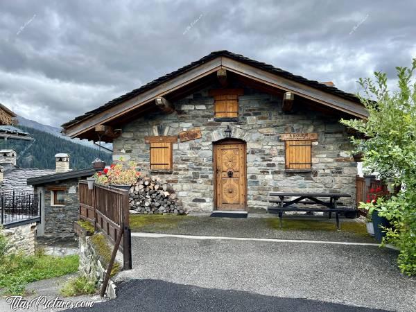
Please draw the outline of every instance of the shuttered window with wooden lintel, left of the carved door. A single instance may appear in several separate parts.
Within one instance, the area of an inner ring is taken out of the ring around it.
[[[150,144],[150,170],[171,171],[173,168],[172,144],[177,137],[146,137]]]

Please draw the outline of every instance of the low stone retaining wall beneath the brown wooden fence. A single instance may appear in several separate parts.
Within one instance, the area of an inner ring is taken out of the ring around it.
[[[103,284],[105,279],[106,268],[103,267],[98,256],[98,252],[94,249],[94,245],[91,243],[90,236],[80,236],[79,237],[79,246],[80,246],[80,266],[78,271],[81,274],[85,274],[92,279],[97,281],[96,287],[99,289]],[[123,257],[118,254],[118,257]],[[106,295],[110,299],[116,297],[116,284],[110,278],[107,284],[107,289],[105,291]]]

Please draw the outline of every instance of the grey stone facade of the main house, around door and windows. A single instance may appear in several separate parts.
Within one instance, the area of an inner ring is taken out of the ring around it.
[[[220,122],[214,119],[211,88],[203,89],[175,102],[172,114],[155,112],[123,126],[121,137],[114,140],[114,162],[120,157],[134,160],[141,171],[149,172],[150,146],[144,137],[178,135],[199,127],[202,138],[173,144],[173,172],[159,176],[173,185],[178,198],[189,211],[214,209],[213,142],[225,137],[227,125],[232,137],[247,144],[248,210],[265,211],[268,191],[343,192],[355,198],[356,163],[349,135],[338,120],[309,107],[295,105],[295,112],[281,110],[281,97],[244,89],[239,97],[239,119]],[[285,171],[284,141],[279,134],[317,132],[312,145],[312,170],[307,173]]]

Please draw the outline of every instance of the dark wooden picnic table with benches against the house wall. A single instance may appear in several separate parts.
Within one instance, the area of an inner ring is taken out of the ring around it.
[[[295,198],[295,199],[288,199]],[[291,192],[269,192],[268,202],[275,204],[268,206],[267,211],[279,213],[279,223],[284,211],[305,211],[305,212],[328,212],[329,218],[332,213],[336,216],[336,229],[340,230],[339,214],[356,214],[356,209],[347,208],[340,202],[340,198],[351,198],[345,193],[291,193]],[[299,207],[297,205],[320,205],[321,207]]]

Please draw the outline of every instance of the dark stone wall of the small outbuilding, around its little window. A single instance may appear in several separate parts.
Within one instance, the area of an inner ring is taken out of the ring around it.
[[[51,191],[49,187],[66,187],[65,205],[51,205]],[[78,220],[78,180],[68,180],[64,183],[50,184],[44,186],[44,234],[50,236],[74,236],[73,221]],[[35,190],[37,191],[37,190]]]

